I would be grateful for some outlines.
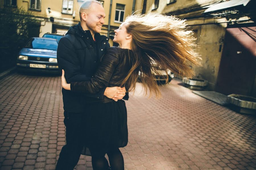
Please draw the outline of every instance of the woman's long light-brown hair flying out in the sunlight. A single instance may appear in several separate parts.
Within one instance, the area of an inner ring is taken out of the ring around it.
[[[190,63],[200,65],[199,54],[193,50],[193,31],[185,30],[185,20],[162,14],[137,14],[125,19],[127,33],[132,35],[131,50],[134,53],[133,66],[121,84],[135,90],[139,74],[141,82],[150,96],[161,93],[154,79],[159,67],[167,74],[168,70],[186,77],[194,72]],[[157,67],[156,67],[157,66]]]

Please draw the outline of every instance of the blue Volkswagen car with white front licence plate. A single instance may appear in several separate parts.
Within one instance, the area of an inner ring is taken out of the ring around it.
[[[31,38],[19,52],[19,69],[59,71],[57,64],[58,41],[51,38]]]

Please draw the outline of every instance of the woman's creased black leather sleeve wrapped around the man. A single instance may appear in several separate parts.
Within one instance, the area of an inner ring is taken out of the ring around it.
[[[108,86],[109,80],[119,64],[120,54],[117,48],[112,47],[102,57],[100,66],[89,81],[71,82],[71,91],[97,93],[101,88]]]

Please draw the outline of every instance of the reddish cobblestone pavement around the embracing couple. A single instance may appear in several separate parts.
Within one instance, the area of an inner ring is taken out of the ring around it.
[[[0,169],[54,169],[65,145],[57,76],[13,74],[0,80]],[[256,169],[256,118],[180,86],[148,99],[138,84],[126,102],[125,169]],[[92,169],[81,156],[77,170]]]

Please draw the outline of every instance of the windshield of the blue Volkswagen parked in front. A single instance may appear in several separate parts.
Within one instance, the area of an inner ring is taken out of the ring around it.
[[[47,50],[57,50],[58,42],[56,40],[47,39],[30,39],[25,48],[39,48]]]

